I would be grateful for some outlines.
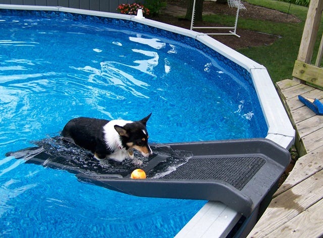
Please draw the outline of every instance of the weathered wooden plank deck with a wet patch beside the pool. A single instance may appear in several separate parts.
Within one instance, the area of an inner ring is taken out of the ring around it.
[[[323,102],[323,91],[288,79],[276,86],[301,157],[248,237],[323,237],[323,115],[297,97]]]

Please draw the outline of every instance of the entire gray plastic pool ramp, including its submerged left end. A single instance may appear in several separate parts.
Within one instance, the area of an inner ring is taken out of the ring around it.
[[[65,169],[83,182],[130,195],[220,201],[246,217],[276,191],[290,161],[288,150],[267,139],[154,144],[154,155],[141,158],[141,166],[99,162],[60,137],[35,144],[7,156]],[[130,178],[138,167],[146,179]]]

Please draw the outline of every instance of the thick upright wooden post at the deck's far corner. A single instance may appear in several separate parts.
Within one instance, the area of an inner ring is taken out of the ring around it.
[[[323,0],[311,0],[297,60],[310,64],[323,9]]]

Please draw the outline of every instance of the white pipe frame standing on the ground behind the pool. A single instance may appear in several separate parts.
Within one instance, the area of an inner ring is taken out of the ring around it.
[[[229,33],[206,33],[206,34],[207,35],[235,35],[235,36],[240,37],[236,33],[237,32],[238,17],[239,17],[239,10],[246,9],[240,0],[228,0],[228,5],[230,8],[237,8],[237,14],[236,14],[236,20],[235,20],[234,27],[194,27],[193,24],[194,24],[194,16],[195,16],[195,3],[196,3],[196,0],[194,0],[194,3],[193,3],[191,30],[193,30],[193,29],[231,29],[229,31]]]

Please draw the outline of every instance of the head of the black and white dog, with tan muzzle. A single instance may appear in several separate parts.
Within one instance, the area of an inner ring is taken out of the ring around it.
[[[140,121],[128,123],[126,125],[115,125],[115,129],[121,137],[123,146],[128,149],[139,151],[144,157],[152,155],[152,151],[148,145],[148,132],[146,123],[151,113]]]

